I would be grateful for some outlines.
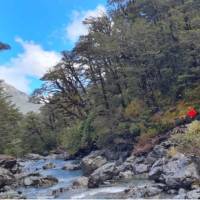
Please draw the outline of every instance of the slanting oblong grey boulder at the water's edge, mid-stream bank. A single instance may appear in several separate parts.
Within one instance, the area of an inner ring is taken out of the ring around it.
[[[89,188],[99,187],[104,181],[111,180],[114,176],[117,176],[119,171],[116,168],[115,162],[107,163],[100,168],[96,169],[90,176],[88,181]]]

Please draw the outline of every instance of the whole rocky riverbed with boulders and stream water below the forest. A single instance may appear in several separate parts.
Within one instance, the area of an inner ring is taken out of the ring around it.
[[[200,158],[173,152],[174,145],[165,140],[148,153],[118,159],[108,150],[79,161],[0,156],[0,198],[199,199]]]

